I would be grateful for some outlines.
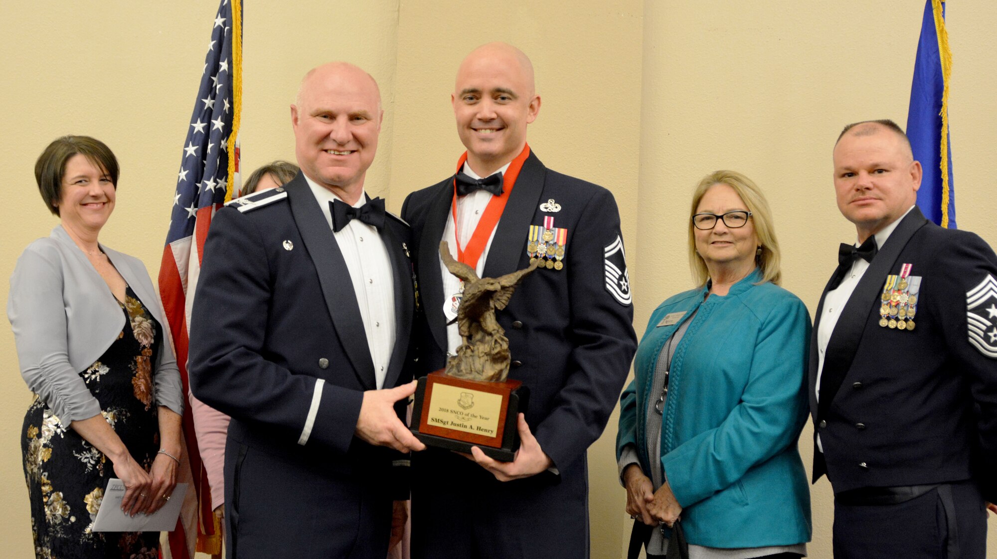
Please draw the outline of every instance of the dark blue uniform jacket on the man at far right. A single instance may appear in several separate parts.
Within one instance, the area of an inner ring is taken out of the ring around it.
[[[917,327],[881,327],[883,284],[905,264],[921,278]],[[997,501],[995,278],[997,255],[976,235],[917,208],[900,221],[841,308],[820,401],[811,342],[808,395],[824,447],[815,482],[827,473],[840,492],[972,479]]]

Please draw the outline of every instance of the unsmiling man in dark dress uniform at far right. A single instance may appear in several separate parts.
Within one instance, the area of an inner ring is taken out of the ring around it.
[[[921,166],[892,121],[849,125],[833,159],[857,233],[811,344],[814,481],[827,474],[834,490],[834,557],[982,558],[997,500],[997,257],[924,219]]]

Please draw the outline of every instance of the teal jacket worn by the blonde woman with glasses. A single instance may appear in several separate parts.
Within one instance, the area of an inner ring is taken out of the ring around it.
[[[797,449],[807,419],[811,321],[796,295],[755,282],[725,296],[706,287],[679,293],[651,314],[620,398],[617,456],[635,444],[649,472],[644,418],[654,369],[677,323],[666,314],[698,309],[675,348],[662,415],[661,464],[682,511],[689,543],[720,548],[810,540],[810,490]],[[658,459],[656,457],[655,459]]]

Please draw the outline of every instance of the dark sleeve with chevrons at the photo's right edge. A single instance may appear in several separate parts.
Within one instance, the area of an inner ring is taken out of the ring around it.
[[[944,275],[942,280],[948,285],[959,286],[945,290],[951,298],[942,304],[943,308],[949,310],[945,314],[942,331],[946,338],[945,345],[955,359],[955,370],[966,376],[976,407],[978,456],[981,460],[980,464],[976,464],[976,469],[982,474],[979,480],[984,498],[994,503],[997,502],[997,477],[994,474],[997,472],[997,355],[985,353],[980,345],[987,348],[988,345],[997,346],[997,343],[991,342],[986,333],[984,343],[977,341],[977,344],[973,344],[970,341],[967,305],[971,292],[982,296],[986,289],[994,288],[990,285],[997,283],[997,256],[982,239],[966,232],[962,232],[957,243],[935,254],[941,259],[937,270]],[[982,306],[986,307],[991,303],[997,303],[997,296],[991,294]],[[990,321],[997,324],[997,310],[975,310],[985,319],[994,318]],[[991,313],[994,315],[991,316]]]

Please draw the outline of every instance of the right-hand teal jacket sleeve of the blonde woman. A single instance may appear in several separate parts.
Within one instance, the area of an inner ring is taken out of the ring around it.
[[[741,401],[719,426],[661,457],[683,507],[725,489],[751,467],[796,443],[807,419],[810,329],[810,314],[800,299],[772,307],[758,332]]]

